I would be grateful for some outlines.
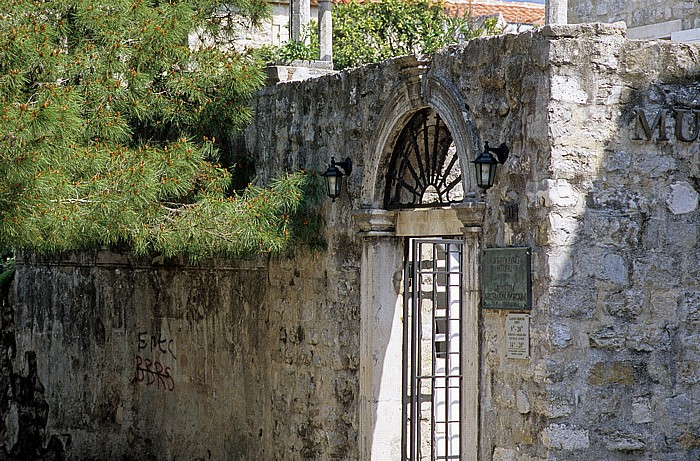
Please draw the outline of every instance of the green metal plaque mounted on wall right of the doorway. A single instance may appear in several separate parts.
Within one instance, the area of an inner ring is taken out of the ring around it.
[[[487,248],[481,260],[483,309],[532,309],[529,248]]]

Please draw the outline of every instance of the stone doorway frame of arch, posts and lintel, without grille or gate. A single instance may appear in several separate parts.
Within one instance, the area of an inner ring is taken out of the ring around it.
[[[453,85],[407,68],[376,130],[374,150],[365,162],[362,208],[353,213],[362,239],[360,295],[359,453],[366,461],[400,461],[403,370],[403,258],[407,237],[461,236],[464,299],[464,453],[476,461],[479,451],[479,279],[485,204],[478,200],[469,160],[480,141],[466,103]],[[399,133],[417,111],[430,107],[452,134],[462,171],[465,200],[450,207],[385,210],[385,177]]]

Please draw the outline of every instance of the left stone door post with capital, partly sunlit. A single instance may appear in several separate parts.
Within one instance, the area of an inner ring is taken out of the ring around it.
[[[402,239],[395,215],[354,215],[362,237],[360,294],[360,459],[401,460],[403,370]]]

